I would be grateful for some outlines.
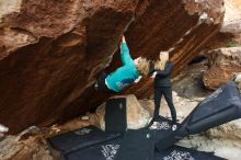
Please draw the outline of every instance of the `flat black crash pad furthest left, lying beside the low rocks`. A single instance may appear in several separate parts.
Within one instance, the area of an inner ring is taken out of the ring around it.
[[[118,137],[120,137],[120,134],[107,134],[95,126],[87,126],[49,137],[47,141],[51,147],[53,155],[61,158],[67,153]]]

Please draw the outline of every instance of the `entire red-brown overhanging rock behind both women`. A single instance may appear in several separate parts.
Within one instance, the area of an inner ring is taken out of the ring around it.
[[[22,0],[20,11],[5,14],[0,26],[0,123],[16,133],[97,106],[110,95],[94,91],[94,79],[124,32],[134,58],[156,59],[169,49],[176,75],[219,30],[221,3]],[[213,23],[198,23],[203,11]],[[118,53],[108,69],[117,61]],[[151,83],[142,80],[122,94],[145,98]]]

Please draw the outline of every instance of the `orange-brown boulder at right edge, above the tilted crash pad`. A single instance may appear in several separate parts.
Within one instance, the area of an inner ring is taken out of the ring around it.
[[[241,47],[219,48],[206,53],[209,69],[204,84],[211,90],[229,81],[234,72],[241,72]]]

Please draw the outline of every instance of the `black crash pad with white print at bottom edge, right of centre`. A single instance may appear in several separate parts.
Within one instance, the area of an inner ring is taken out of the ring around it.
[[[167,150],[154,152],[153,160],[226,160],[213,152],[197,151],[194,149],[172,146]]]

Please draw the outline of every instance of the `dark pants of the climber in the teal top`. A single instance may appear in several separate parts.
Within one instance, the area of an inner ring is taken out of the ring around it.
[[[105,79],[107,77],[107,73],[102,70],[97,77],[97,80],[96,80],[96,87],[95,89],[97,91],[102,91],[102,92],[106,92],[106,93],[114,93],[114,91],[110,90],[108,87],[105,84]]]

